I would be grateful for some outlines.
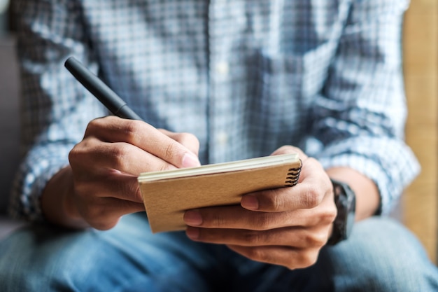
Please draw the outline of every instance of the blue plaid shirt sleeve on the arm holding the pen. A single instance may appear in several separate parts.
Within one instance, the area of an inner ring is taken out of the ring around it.
[[[106,111],[64,68],[71,55],[92,71],[90,48],[76,1],[13,1],[22,83],[22,165],[16,176],[10,215],[43,220],[40,196],[52,176],[69,164],[69,151],[87,123]]]

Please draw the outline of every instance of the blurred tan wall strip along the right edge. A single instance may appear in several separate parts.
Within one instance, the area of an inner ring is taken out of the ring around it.
[[[411,0],[404,22],[404,72],[409,104],[406,134],[423,167],[402,206],[404,224],[437,263],[438,1]]]

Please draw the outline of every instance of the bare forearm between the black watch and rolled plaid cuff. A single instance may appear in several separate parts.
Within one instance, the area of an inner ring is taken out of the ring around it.
[[[333,167],[327,169],[332,179],[344,181],[356,195],[356,221],[373,216],[379,209],[379,190],[371,179],[348,167]]]

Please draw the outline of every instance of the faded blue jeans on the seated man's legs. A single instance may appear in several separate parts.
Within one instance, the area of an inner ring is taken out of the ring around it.
[[[0,291],[438,291],[438,270],[399,223],[370,218],[306,269],[253,262],[143,214],[108,231],[37,225],[0,242]]]

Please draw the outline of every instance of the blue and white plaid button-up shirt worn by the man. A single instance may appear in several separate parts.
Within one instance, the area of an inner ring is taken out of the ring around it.
[[[203,163],[292,144],[379,186],[381,211],[418,172],[404,144],[407,0],[15,0],[22,144],[11,213],[41,219],[48,179],[108,112],[73,55],[148,123],[191,132]]]

